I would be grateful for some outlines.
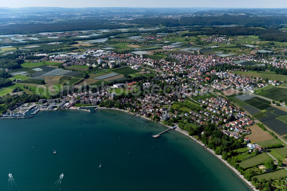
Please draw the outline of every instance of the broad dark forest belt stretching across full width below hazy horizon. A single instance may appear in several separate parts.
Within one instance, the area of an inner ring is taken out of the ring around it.
[[[228,15],[221,16],[194,16],[175,18],[150,18],[141,17],[133,20],[127,20],[126,24],[114,24],[111,21],[100,18],[72,19],[55,23],[38,23],[38,24],[12,24],[0,28],[0,34],[29,34],[38,32],[60,32],[71,30],[99,30],[99,29],[116,29],[116,28],[133,28],[145,26],[164,25],[166,27],[182,26],[226,26],[240,25],[245,27],[263,27],[277,29],[278,25],[286,24],[286,16],[264,16],[255,15]],[[133,25],[134,24],[134,25]],[[239,34],[238,34],[239,35]],[[247,35],[247,34],[244,34]],[[263,35],[264,37],[264,35]],[[267,37],[266,37],[267,38]]]

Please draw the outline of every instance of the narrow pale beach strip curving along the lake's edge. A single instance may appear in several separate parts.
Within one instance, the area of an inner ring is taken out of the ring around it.
[[[127,110],[118,109],[118,108],[99,107],[98,109],[112,109],[112,110],[118,110],[118,111],[122,111],[122,112],[125,112],[125,113],[131,113],[131,114],[133,114],[132,112],[129,112],[129,111],[127,111]],[[151,120],[150,118],[147,118],[147,117],[145,117],[145,116],[140,116],[140,117],[142,117],[142,118],[144,118],[144,119],[147,119],[147,120]],[[166,125],[166,124],[163,124],[162,122],[158,122],[158,123],[160,123],[160,124],[162,124],[162,125],[164,125],[164,126],[166,126],[166,127],[168,127],[168,128],[172,128],[171,126],[168,126],[168,125]],[[176,130],[177,132],[180,132],[180,133],[182,133],[183,135],[185,135],[185,136],[187,136],[187,137],[193,139],[193,141],[195,141],[196,143],[202,145],[203,147],[205,146],[201,141],[199,141],[199,140],[195,139],[194,137],[188,135],[188,132],[186,132],[185,130],[182,130],[182,129],[179,128],[179,127],[175,128],[174,130]],[[229,167],[230,169],[232,169],[232,170],[236,173],[236,175],[237,175],[238,177],[240,177],[245,183],[247,183],[247,185],[250,186],[250,189],[251,189],[251,190],[259,191],[259,190],[257,190],[257,189],[255,188],[255,186],[252,185],[251,182],[249,182],[248,180],[246,180],[246,179],[244,178],[244,176],[239,173],[238,170],[236,170],[234,167],[232,167],[226,160],[222,159],[222,156],[221,156],[221,155],[216,155],[215,152],[214,152],[212,149],[210,149],[210,148],[207,148],[207,147],[204,147],[204,148],[207,149],[207,150],[208,150],[210,153],[212,153],[214,156],[216,156],[216,157],[217,157],[220,161],[222,161],[227,167]]]

